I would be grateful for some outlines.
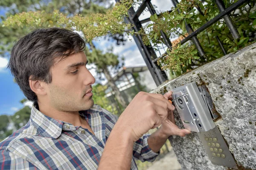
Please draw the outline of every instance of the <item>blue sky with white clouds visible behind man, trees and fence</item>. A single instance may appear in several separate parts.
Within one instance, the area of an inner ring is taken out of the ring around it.
[[[113,0],[114,2],[114,0]],[[170,10],[172,7],[171,0],[151,0],[151,3],[157,6],[157,12],[164,12]],[[137,7],[134,8],[137,10]],[[161,10],[158,10],[161,9]],[[5,15],[5,11],[0,8],[0,16]],[[139,17],[140,20],[150,17],[149,12],[144,12]],[[1,21],[1,20],[0,20]],[[131,39],[131,40],[128,40]],[[117,46],[114,42],[105,40],[104,37],[99,37],[94,41],[96,47],[101,49],[103,52],[107,48],[113,46],[113,53],[119,55],[119,57],[125,58],[125,66],[146,66],[140,51],[134,42],[132,37],[126,37],[127,41],[124,46]],[[164,49],[163,49],[164,50]],[[162,52],[163,52],[162,50]],[[159,54],[157,54],[159,55]],[[9,69],[6,69],[9,58],[2,58],[0,56],[0,115],[13,115],[19,109],[23,108],[24,105],[20,103],[20,100],[25,98],[19,86],[14,83],[13,77]],[[90,66],[89,66],[90,68]],[[91,69],[90,72],[93,76],[96,76],[95,70]],[[106,81],[100,81],[105,84]],[[27,102],[25,105],[31,106],[31,102]]]

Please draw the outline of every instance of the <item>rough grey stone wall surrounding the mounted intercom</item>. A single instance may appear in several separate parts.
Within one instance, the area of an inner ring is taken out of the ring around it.
[[[227,141],[238,168],[256,170],[256,43],[199,67],[175,80],[162,84],[152,93],[161,93],[192,81],[209,89],[215,121]],[[184,128],[175,112],[177,126]],[[197,133],[169,138],[184,170],[227,170],[212,164]]]

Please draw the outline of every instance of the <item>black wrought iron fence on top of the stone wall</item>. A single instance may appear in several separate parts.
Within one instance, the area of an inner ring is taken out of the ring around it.
[[[177,0],[171,0],[171,1],[174,4],[174,6],[176,7],[178,4],[178,1]],[[186,43],[188,40],[192,40],[192,42],[195,44],[196,48],[198,49],[199,55],[201,57],[203,57],[205,55],[204,49],[202,48],[202,46],[197,38],[197,35],[200,32],[202,32],[205,29],[212,26],[212,24],[218,22],[218,20],[220,20],[222,18],[224,19],[234,40],[240,38],[239,32],[237,31],[236,27],[234,26],[233,21],[232,21],[231,17],[229,16],[229,14],[231,12],[233,12],[234,10],[236,10],[242,4],[246,3],[247,1],[248,0],[239,0],[236,3],[233,3],[230,7],[228,7],[226,9],[222,0],[215,0],[215,3],[217,5],[220,13],[217,16],[215,16],[213,19],[207,21],[203,26],[201,26],[200,28],[198,28],[195,31],[193,31],[190,24],[186,24],[186,30],[189,33],[189,35],[187,37],[185,37],[183,40],[181,40],[181,42],[180,42],[181,45]],[[119,2],[119,0],[116,0],[116,2]],[[146,9],[146,7],[148,8],[148,11],[150,12],[151,15],[156,14],[156,11],[155,11],[153,5],[151,4],[151,0],[143,0],[143,2],[140,4],[140,7],[137,9],[136,12],[134,11],[134,7],[131,7],[128,10],[128,17],[125,17],[125,22],[132,23],[134,26],[133,29],[135,32],[139,32],[141,29],[143,29],[143,27],[142,27],[143,23],[150,21],[150,18],[147,18],[144,20],[139,20],[139,16],[143,13],[143,11]],[[197,10],[200,12],[200,14],[204,15],[203,12],[201,12],[201,9],[197,8]],[[163,31],[161,31],[160,33],[164,40],[165,45],[169,49],[172,49],[172,43],[169,40],[169,37],[167,37],[167,35]],[[143,38],[141,35],[134,34],[133,38],[140,50],[141,55],[144,58],[144,61],[147,65],[148,70],[150,71],[155,83],[157,84],[157,86],[159,86],[160,84],[163,84],[164,81],[168,80],[167,75],[166,75],[166,72],[161,70],[160,66],[157,65],[157,60],[159,58],[161,58],[163,55],[160,57],[157,57],[152,46],[151,45],[146,46],[143,43]],[[227,52],[224,49],[224,46],[222,45],[221,40],[219,39],[218,36],[216,37],[216,39],[217,39],[224,55],[226,55]]]

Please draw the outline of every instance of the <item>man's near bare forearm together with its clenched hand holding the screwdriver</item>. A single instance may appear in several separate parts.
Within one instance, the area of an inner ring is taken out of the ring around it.
[[[166,121],[174,109],[163,95],[139,92],[113,127],[99,170],[130,170],[134,142],[148,130]]]

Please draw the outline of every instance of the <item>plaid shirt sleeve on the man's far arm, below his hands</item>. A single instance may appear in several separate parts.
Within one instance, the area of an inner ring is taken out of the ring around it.
[[[152,162],[156,159],[156,157],[160,153],[160,151],[158,153],[155,153],[148,146],[149,136],[150,136],[149,134],[144,134],[139,140],[134,142],[133,156],[134,158],[140,159],[140,161],[142,162],[144,161]]]

